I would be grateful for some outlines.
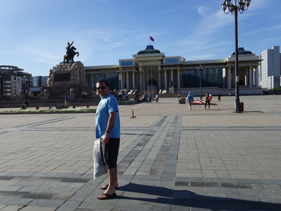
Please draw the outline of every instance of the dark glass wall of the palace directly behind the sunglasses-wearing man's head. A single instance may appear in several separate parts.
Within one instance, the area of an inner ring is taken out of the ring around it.
[[[96,82],[99,80],[105,80],[108,83],[108,87],[110,90],[119,90],[119,74],[118,72],[92,72],[85,73],[85,85],[90,86],[91,91],[96,90]]]

